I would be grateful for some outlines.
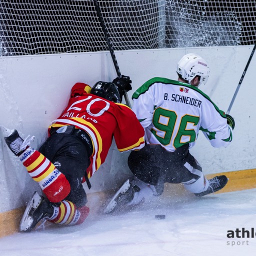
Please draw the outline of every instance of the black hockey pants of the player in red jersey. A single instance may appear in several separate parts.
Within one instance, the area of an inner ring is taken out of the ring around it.
[[[72,201],[77,207],[85,205],[87,198],[81,181],[84,175],[87,177],[90,155],[85,144],[76,135],[54,132],[38,151],[68,180],[71,191],[65,199]]]

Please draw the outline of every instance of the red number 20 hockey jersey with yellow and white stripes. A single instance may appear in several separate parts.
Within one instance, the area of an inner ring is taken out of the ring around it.
[[[85,83],[75,83],[68,105],[49,127],[74,125],[89,134],[93,153],[88,177],[104,162],[113,137],[120,152],[144,146],[144,129],[134,112],[124,104],[90,94],[90,89]]]

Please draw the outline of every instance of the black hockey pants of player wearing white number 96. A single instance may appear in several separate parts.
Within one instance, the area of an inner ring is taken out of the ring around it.
[[[165,182],[181,183],[199,178],[184,166],[188,163],[193,168],[202,170],[189,153],[188,146],[185,144],[174,152],[169,152],[161,145],[146,144],[142,149],[130,153],[128,166],[137,178],[154,185],[157,193],[161,194]]]

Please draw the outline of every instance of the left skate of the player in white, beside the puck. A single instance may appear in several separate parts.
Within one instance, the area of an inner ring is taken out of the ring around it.
[[[123,206],[128,204],[132,201],[134,193],[138,192],[139,190],[140,188],[137,185],[132,184],[129,179],[127,179],[118,189],[118,191],[113,195],[109,203],[104,208],[103,212],[110,213],[114,210],[116,205]]]

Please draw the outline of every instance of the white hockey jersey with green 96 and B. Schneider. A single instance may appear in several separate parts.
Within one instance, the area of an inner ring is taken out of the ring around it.
[[[133,106],[145,129],[145,140],[174,151],[193,146],[201,130],[212,146],[227,146],[232,129],[226,116],[200,89],[187,83],[154,77],[132,95]]]

